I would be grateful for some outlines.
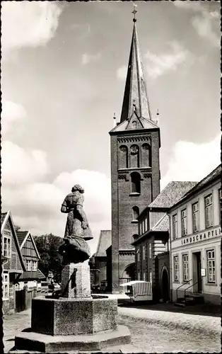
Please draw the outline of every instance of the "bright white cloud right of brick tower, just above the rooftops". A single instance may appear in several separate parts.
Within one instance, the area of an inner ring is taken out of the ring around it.
[[[221,135],[205,144],[177,142],[161,189],[170,181],[201,181],[221,163]]]

